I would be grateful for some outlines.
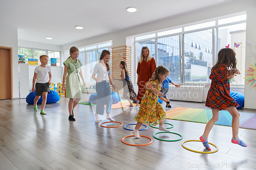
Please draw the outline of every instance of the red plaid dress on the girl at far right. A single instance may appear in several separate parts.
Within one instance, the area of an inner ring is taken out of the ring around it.
[[[230,96],[229,82],[227,79],[228,69],[225,64],[221,64],[218,68],[211,71],[209,79],[211,79],[210,89],[207,94],[205,106],[211,109],[220,109],[239,104]]]

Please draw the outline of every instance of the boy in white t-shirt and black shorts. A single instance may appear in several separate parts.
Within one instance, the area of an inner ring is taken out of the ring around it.
[[[47,94],[50,93],[50,85],[52,80],[51,68],[47,66],[49,57],[47,55],[40,56],[41,65],[35,67],[32,91],[35,91],[34,111],[37,111],[37,101],[42,95],[41,114],[46,114],[44,108],[46,106]],[[36,81],[36,84],[35,84]],[[36,90],[35,90],[36,89]]]

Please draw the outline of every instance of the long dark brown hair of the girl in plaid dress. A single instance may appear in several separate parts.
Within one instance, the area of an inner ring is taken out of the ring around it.
[[[236,73],[237,72],[237,59],[236,53],[231,48],[222,48],[218,53],[218,60],[216,64],[211,68],[213,71],[215,68],[219,67],[221,64],[225,64],[228,70],[231,72],[229,73]]]

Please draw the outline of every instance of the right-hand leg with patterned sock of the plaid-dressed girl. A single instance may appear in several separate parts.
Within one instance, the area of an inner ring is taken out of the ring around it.
[[[239,116],[240,113],[238,112],[237,108],[232,106],[229,108],[226,108],[226,110],[232,115],[232,143],[236,143],[241,145],[242,147],[247,147],[247,144],[239,139],[238,137],[238,131],[239,131]]]

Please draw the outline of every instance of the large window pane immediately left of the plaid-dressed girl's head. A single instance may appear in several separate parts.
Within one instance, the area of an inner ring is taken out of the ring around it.
[[[212,29],[184,34],[184,82],[210,83]]]

